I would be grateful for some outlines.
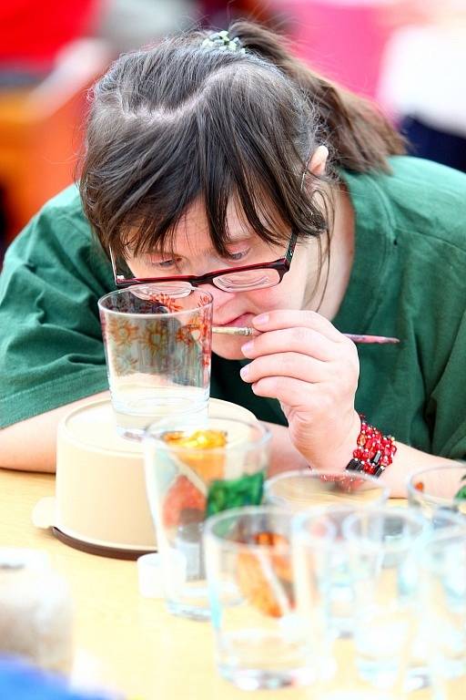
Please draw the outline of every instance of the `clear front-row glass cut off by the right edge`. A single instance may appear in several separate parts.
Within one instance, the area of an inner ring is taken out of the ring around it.
[[[440,530],[418,551],[421,606],[434,698],[454,700],[466,684],[466,531]]]

